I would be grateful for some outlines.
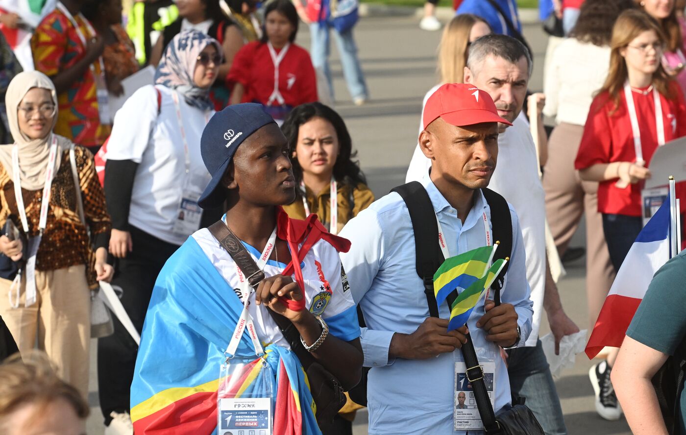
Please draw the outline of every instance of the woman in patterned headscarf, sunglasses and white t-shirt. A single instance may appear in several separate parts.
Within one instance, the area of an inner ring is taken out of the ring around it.
[[[122,288],[121,303],[139,331],[164,263],[189,235],[222,215],[202,213],[197,203],[211,178],[200,156],[200,136],[214,113],[208,93],[221,53],[219,43],[202,32],[177,34],[157,67],[155,85],[136,91],[115,116],[104,183],[113,222],[110,253],[117,257],[113,284]],[[130,427],[136,353],[134,340],[115,319],[114,335],[98,341],[106,425]]]

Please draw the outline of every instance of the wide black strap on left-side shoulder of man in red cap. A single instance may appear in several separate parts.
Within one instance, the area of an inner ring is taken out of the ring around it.
[[[410,183],[391,190],[398,193],[410,211],[412,230],[414,231],[414,250],[416,253],[416,270],[424,284],[424,293],[429,304],[431,317],[438,317],[438,305],[434,296],[434,273],[445,261],[438,246],[438,224],[434,214],[431,198],[421,183]]]

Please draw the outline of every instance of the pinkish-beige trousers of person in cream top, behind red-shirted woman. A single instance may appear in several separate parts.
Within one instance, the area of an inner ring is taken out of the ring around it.
[[[543,189],[548,224],[560,257],[581,217],[586,216],[586,294],[591,331],[615,279],[615,270],[598,212],[598,183],[580,180],[574,169],[583,132],[583,126],[562,123],[550,134]]]

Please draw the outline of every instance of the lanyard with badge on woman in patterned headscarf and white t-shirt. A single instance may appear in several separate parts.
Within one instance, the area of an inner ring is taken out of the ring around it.
[[[186,136],[186,129],[183,126],[183,119],[181,117],[181,106],[176,91],[171,93],[174,99],[174,108],[176,109],[176,119],[178,127],[181,131],[181,141],[183,142],[183,156],[185,164],[185,180],[183,182],[183,191],[181,195],[181,202],[176,209],[176,219],[174,219],[174,228],[172,232],[175,234],[189,236],[200,228],[200,219],[202,218],[202,207],[198,204],[202,191],[193,189],[191,183],[191,154],[188,149],[188,139]],[[205,124],[208,121],[207,114],[205,114]]]

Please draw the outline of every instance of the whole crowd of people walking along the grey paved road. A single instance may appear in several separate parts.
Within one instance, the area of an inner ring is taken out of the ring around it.
[[[567,434],[539,339],[543,314],[556,352],[580,331],[557,255],[585,217],[592,329],[650,160],[686,136],[686,5],[552,3],[561,33],[529,98],[514,1],[456,2],[406,184],[378,199],[323,103],[331,32],[353,103],[369,97],[355,1],[60,0],[24,43],[0,11],[3,433],[85,433],[97,337],[106,434],[351,435],[364,406],[370,434],[492,433],[513,413]],[[638,434],[668,433],[650,379],[683,351],[684,316],[656,320],[681,306],[665,290],[681,261],[589,372],[598,414]],[[99,282],[126,316],[95,336]]]

